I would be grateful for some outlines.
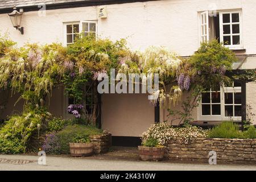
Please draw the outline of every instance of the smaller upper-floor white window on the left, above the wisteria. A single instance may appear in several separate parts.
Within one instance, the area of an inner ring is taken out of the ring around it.
[[[97,22],[81,21],[64,23],[64,45],[68,46],[74,43],[80,33],[82,33],[82,36],[96,36]]]

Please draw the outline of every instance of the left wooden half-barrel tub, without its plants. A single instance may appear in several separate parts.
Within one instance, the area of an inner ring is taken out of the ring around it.
[[[93,143],[69,143],[71,156],[81,157],[93,154]]]

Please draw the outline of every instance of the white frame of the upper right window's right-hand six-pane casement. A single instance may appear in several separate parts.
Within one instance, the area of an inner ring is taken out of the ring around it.
[[[239,22],[232,23],[232,14],[238,13],[239,14]],[[223,14],[230,14],[230,23],[223,23]],[[239,24],[240,33],[233,34],[232,25]],[[230,25],[230,34],[223,34],[223,26]],[[240,36],[240,44],[233,45],[233,36],[239,35]],[[243,48],[243,33],[242,33],[242,11],[221,11],[220,12],[220,41],[224,42],[224,36],[230,36],[230,44],[225,45],[225,47],[229,47],[230,49],[242,49]]]

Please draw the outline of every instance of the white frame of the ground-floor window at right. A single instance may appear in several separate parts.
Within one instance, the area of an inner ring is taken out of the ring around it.
[[[225,105],[226,105],[225,93],[241,93],[241,87],[224,87],[224,86],[220,87],[221,115],[203,115],[202,101],[200,101],[199,107],[197,107],[197,120],[199,121],[230,121],[230,120],[241,121],[242,117],[226,117],[225,116]],[[236,104],[233,103],[232,105],[236,105]],[[237,104],[237,105],[240,105],[240,104]]]

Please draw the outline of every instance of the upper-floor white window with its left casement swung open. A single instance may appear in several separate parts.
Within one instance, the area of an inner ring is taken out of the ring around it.
[[[219,11],[213,16],[208,11],[200,13],[200,41],[214,38],[230,49],[242,49],[241,11]]]

